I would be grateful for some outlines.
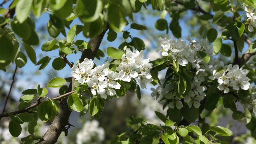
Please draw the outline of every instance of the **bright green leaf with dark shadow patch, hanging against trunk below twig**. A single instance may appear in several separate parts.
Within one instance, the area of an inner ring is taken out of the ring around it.
[[[69,96],[68,105],[76,112],[81,112],[83,110],[83,103],[77,94],[72,94]]]

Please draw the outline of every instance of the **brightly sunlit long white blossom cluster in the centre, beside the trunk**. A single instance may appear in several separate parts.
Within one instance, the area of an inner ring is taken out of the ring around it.
[[[130,82],[132,78],[138,78],[141,88],[146,88],[146,82],[153,81],[150,75],[153,64],[149,63],[149,59],[143,59],[143,55],[143,50],[133,53],[126,49],[121,59],[114,61],[118,64],[118,72],[109,69],[109,62],[94,67],[93,61],[86,58],[82,63],[78,63],[78,66],[73,65],[71,74],[79,83],[87,83],[93,95],[99,94],[106,99],[107,95],[117,94],[115,89],[120,89],[121,85],[117,80]],[[140,74],[136,70],[139,70]]]

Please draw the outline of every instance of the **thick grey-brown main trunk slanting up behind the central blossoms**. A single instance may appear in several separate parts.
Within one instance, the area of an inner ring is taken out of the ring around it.
[[[97,35],[94,38],[89,40],[89,44],[92,45],[93,48],[85,49],[82,52],[82,56],[80,58],[80,63],[84,61],[85,58],[94,59],[96,53],[98,51],[99,45],[108,29],[108,24],[106,29],[100,35]],[[75,87],[75,79],[72,78],[72,82],[69,85],[69,91],[74,90]],[[43,139],[41,139],[41,144],[54,144],[57,142],[57,139],[62,131],[65,130],[65,126],[68,125],[68,120],[70,117],[71,111],[68,108],[67,99],[63,99],[62,103],[60,103],[60,112],[53,120],[50,128],[44,134]]]

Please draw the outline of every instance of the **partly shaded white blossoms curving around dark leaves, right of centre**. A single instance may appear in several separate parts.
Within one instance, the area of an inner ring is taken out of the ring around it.
[[[201,85],[207,73],[204,65],[205,62],[201,57],[198,57],[197,51],[204,51],[208,55],[211,55],[212,45],[206,39],[199,42],[190,39],[189,36],[186,39],[189,44],[186,44],[182,38],[173,41],[166,38],[159,38],[161,48],[156,49],[156,51],[162,52],[162,56],[172,56],[173,60],[177,61],[181,66],[191,64],[192,68],[196,69],[194,81],[191,83],[191,91],[184,97],[184,101],[189,107],[194,105],[194,107],[198,108],[200,101],[205,97],[204,91],[207,90],[206,86]],[[175,94],[175,85],[173,84],[167,85],[164,89],[162,86],[159,86],[157,89],[152,89],[152,91],[154,91],[152,93],[153,96],[164,96],[166,99],[171,99],[171,102],[168,104],[170,108],[177,107],[181,109],[183,106],[181,98]]]

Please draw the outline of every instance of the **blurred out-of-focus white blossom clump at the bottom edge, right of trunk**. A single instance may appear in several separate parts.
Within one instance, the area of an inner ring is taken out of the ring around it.
[[[99,127],[97,120],[86,121],[76,135],[77,144],[98,144],[105,138],[105,131]]]

